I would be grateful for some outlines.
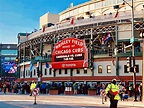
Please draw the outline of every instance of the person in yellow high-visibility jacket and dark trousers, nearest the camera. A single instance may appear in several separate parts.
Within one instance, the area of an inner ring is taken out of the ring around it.
[[[116,82],[116,79],[112,79],[112,82],[106,87],[106,94],[110,98],[110,108],[117,108],[118,101],[120,100],[120,88]]]

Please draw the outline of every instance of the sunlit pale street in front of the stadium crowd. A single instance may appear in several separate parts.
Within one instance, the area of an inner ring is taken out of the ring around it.
[[[34,104],[29,95],[0,94],[0,108],[108,108],[109,101],[101,104],[99,96],[39,95]],[[119,101],[118,108],[144,108],[142,102]]]

